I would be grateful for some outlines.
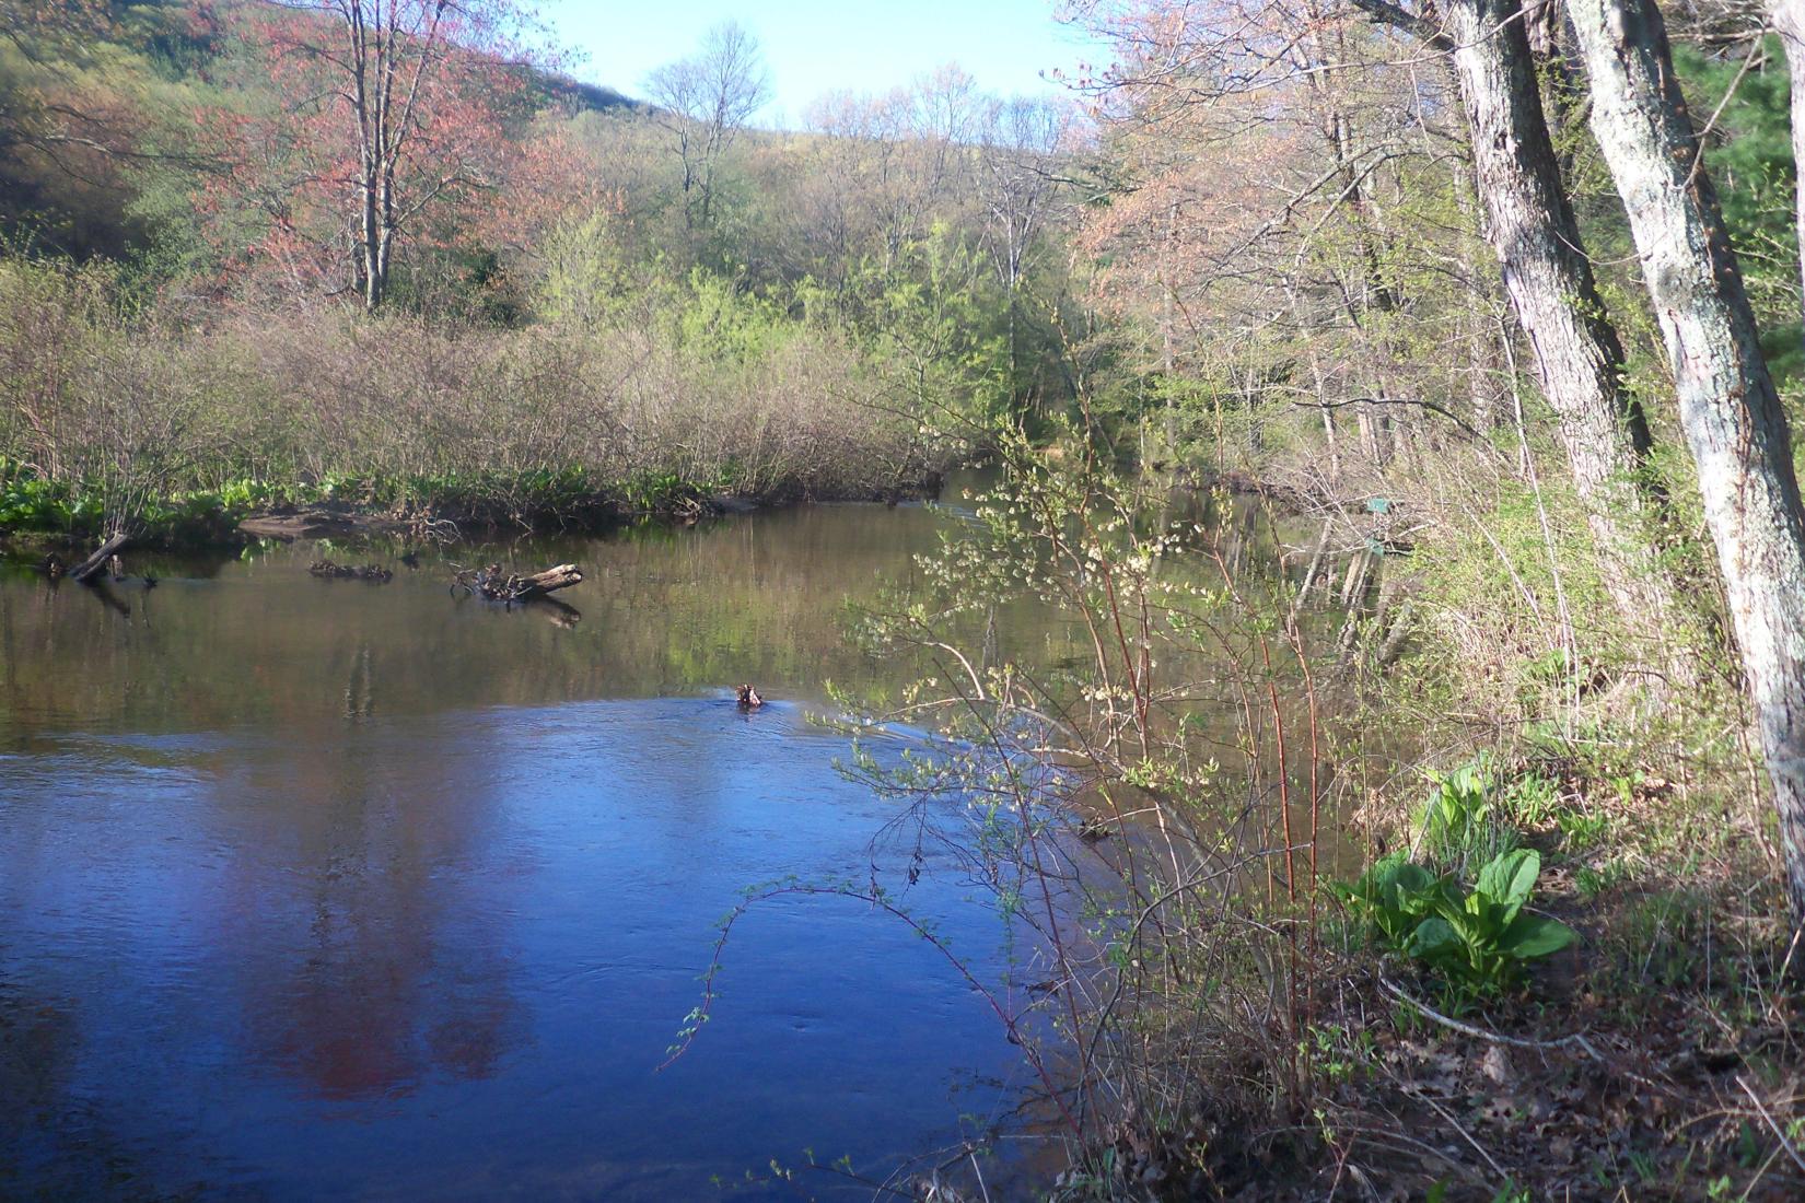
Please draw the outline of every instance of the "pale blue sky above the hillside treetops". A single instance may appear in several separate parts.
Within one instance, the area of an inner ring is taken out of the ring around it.
[[[776,99],[760,124],[794,124],[830,88],[884,92],[957,61],[989,92],[1051,92],[1041,70],[1097,58],[1052,20],[1054,0],[545,0],[540,14],[585,60],[572,74],[644,96],[646,72],[738,20],[764,45]]]

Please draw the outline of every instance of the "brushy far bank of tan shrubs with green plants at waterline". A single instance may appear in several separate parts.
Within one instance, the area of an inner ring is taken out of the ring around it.
[[[0,263],[0,530],[206,541],[245,514],[569,527],[919,491],[957,455],[883,348],[706,278],[509,330],[190,307]]]

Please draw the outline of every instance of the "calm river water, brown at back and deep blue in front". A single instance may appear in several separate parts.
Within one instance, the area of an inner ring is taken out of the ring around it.
[[[834,900],[756,909],[657,1071],[744,887],[899,875],[807,712],[884,682],[843,602],[906,588],[944,521],[444,554],[590,574],[513,613],[439,556],[307,575],[393,548],[148,559],[148,592],[0,574],[0,1196],[708,1198],[805,1149],[883,1178],[1013,1107],[982,1001]],[[996,631],[1074,653],[1027,611]],[[740,714],[738,680],[778,702]],[[912,905],[1004,972],[951,864]]]

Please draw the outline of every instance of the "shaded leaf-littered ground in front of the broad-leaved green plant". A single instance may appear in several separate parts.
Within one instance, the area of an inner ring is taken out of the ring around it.
[[[1718,831],[1653,795],[1583,844],[1523,831],[1579,938],[1491,999],[1325,920],[1307,1104],[1274,1116],[1274,1068],[1231,1059],[1179,1131],[1121,1129],[1114,1198],[1805,1198],[1805,949],[1763,817],[1691,819]]]

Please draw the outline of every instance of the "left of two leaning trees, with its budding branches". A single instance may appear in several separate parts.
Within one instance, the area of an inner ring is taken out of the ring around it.
[[[1471,0],[1464,4],[1478,13]],[[1377,34],[1359,9],[1377,18]],[[1352,408],[1368,469],[1383,474],[1402,453],[1401,467],[1421,474],[1424,453],[1435,451],[1439,433],[1448,429],[1428,415],[1457,417],[1437,397],[1471,399],[1473,422],[1464,431],[1469,438],[1498,411],[1505,339],[1491,319],[1496,283],[1489,271],[1473,271],[1487,258],[1476,254],[1473,231],[1480,222],[1473,213],[1480,193],[1487,204],[1507,206],[1509,222],[1486,222],[1487,233],[1505,260],[1505,274],[1522,285],[1509,290],[1511,299],[1529,303],[1529,317],[1538,319],[1518,325],[1532,326],[1541,352],[1536,366],[1563,418],[1574,476],[1588,516],[1605,534],[1605,575],[1617,584],[1624,619],[1646,628],[1650,610],[1664,608],[1661,592],[1646,584],[1653,557],[1639,521],[1643,510],[1653,509],[1637,489],[1646,422],[1621,388],[1623,350],[1576,249],[1572,213],[1558,204],[1558,171],[1543,171],[1543,164],[1552,168],[1552,152],[1541,153],[1549,133],[1529,56],[1518,52],[1520,20],[1489,5],[1484,22],[1469,22],[1487,36],[1457,40],[1439,16],[1426,16],[1431,11],[1383,0],[1087,5],[1090,25],[1123,47],[1103,76],[1105,96],[1130,101],[1128,117],[1148,130],[1150,142],[1170,141],[1166,130],[1173,126],[1199,130],[1188,155],[1159,164],[1157,175],[1135,173],[1121,189],[1134,195],[1112,200],[1123,213],[1114,224],[1150,251],[1159,249],[1146,258],[1157,265],[1164,301],[1157,321],[1166,346],[1162,366],[1170,373],[1182,364],[1182,355],[1173,355],[1175,319],[1195,332],[1202,316],[1186,260],[1215,260],[1215,292],[1235,287],[1251,301],[1262,290],[1282,290],[1265,305],[1242,301],[1242,321],[1262,328],[1254,337],[1271,346],[1267,375],[1274,386],[1260,391],[1289,390],[1298,399],[1292,404],[1321,415],[1328,449],[1323,485],[1354,485],[1341,473],[1339,408]],[[1514,34],[1514,45],[1489,36],[1496,25]],[[1435,52],[1424,56],[1412,45],[1401,54],[1393,27]],[[1469,51],[1466,67],[1478,76],[1449,70],[1457,41]],[[1514,63],[1505,51],[1516,54]],[[1516,108],[1513,70],[1531,88],[1527,105]],[[1473,159],[1464,101],[1476,99],[1476,88],[1489,88],[1482,105],[1495,121],[1495,141],[1486,150],[1498,153],[1478,164],[1475,189],[1455,171],[1466,171]],[[1204,108],[1215,110],[1213,121],[1193,115]],[[1235,166],[1211,162],[1229,153]],[[1211,179],[1155,197],[1171,191],[1162,177],[1182,171],[1208,171]],[[1262,189],[1273,193],[1265,213],[1245,233],[1224,238],[1242,224],[1244,197]],[[1162,207],[1155,209],[1153,200]],[[1525,236],[1531,242],[1522,243]],[[1206,245],[1204,256],[1186,254],[1186,242],[1211,240],[1215,249]],[[1258,251],[1265,256],[1254,265]],[[1220,346],[1220,337],[1215,341]],[[1458,344],[1466,354],[1458,363],[1444,357],[1437,368],[1424,355],[1426,344]]]

